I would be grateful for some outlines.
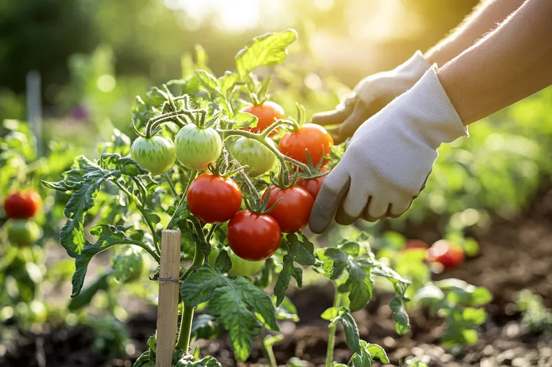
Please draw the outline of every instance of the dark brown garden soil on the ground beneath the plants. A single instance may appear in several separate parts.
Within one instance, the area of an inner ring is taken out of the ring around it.
[[[438,236],[431,230],[421,236],[415,235],[414,229],[407,228],[405,232],[410,237],[427,240]],[[515,307],[515,293],[522,289],[538,293],[546,307],[552,307],[552,190],[540,192],[524,216],[509,221],[495,219],[488,233],[476,237],[481,247],[477,258],[435,277],[456,277],[485,286],[493,294],[494,299],[487,306],[488,321],[478,330],[480,339],[474,346],[459,350],[442,348],[442,322],[429,317],[424,310],[409,312],[412,330],[397,337],[388,297],[384,295],[355,314],[362,338],[384,346],[394,366],[400,366],[411,355],[425,356],[430,367],[552,366],[552,339],[525,333]],[[328,323],[319,319],[319,315],[331,306],[333,287],[311,286],[291,293],[290,298],[297,306],[301,322],[282,324],[286,337],[274,346],[278,363],[286,364],[295,356],[311,365],[324,364]],[[130,367],[155,331],[155,311],[132,317],[128,330],[136,352],[119,359],[95,352],[89,329],[71,328],[55,329],[46,335],[21,335],[7,351],[0,349],[0,366]],[[223,366],[235,366],[226,340],[200,341],[198,345],[204,353],[215,355]],[[350,356],[344,335],[338,330],[335,359],[346,363]],[[262,353],[255,348],[250,363],[263,362]]]

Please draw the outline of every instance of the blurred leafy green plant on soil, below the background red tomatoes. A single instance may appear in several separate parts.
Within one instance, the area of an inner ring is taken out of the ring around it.
[[[492,296],[483,287],[446,279],[426,284],[417,291],[415,300],[428,305],[431,313],[445,317],[443,344],[453,346],[477,342],[473,328],[485,322],[486,313],[480,307],[491,302]]]

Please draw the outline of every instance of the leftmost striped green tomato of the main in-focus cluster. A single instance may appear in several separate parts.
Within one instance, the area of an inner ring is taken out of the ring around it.
[[[138,164],[157,176],[166,172],[175,163],[175,145],[169,138],[153,136],[139,137],[130,147],[130,156]]]

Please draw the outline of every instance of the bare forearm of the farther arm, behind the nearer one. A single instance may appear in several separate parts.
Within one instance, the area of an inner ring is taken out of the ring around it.
[[[488,0],[480,3],[472,14],[450,36],[426,52],[425,58],[439,67],[454,59],[486,33],[497,28],[506,17],[520,8],[525,0]]]

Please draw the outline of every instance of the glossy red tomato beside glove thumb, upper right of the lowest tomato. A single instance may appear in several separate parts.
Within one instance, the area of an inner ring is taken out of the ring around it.
[[[263,199],[267,192],[268,189],[264,191]],[[285,190],[275,186],[270,187],[268,207],[272,207],[279,199],[282,200],[278,202],[273,211],[270,211],[269,215],[278,222],[282,232],[293,233],[304,229],[315,203],[313,196],[306,189],[297,185]]]

